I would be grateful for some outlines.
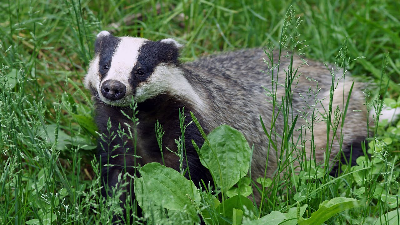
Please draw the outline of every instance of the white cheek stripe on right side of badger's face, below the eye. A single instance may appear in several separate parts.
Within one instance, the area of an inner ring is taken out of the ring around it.
[[[182,71],[165,64],[156,66],[148,80],[136,88],[135,100],[143,102],[165,93],[180,99],[184,98],[194,106],[201,106],[204,109],[204,102],[190,86]]]

